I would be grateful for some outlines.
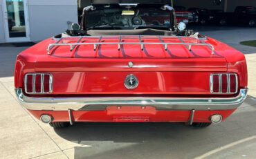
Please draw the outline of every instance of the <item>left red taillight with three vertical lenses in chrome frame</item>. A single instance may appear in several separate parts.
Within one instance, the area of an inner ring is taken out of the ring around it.
[[[53,75],[50,73],[28,73],[24,79],[25,92],[44,94],[53,91]]]

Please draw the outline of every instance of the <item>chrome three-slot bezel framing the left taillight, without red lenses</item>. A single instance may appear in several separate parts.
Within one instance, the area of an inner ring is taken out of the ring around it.
[[[27,89],[27,84],[28,84],[28,75],[32,75],[33,76],[33,91],[32,92],[28,92]],[[40,75],[41,76],[41,88],[40,88],[40,92],[37,92],[35,90],[35,77],[36,75]],[[44,75],[49,75],[49,91],[45,92],[44,91]],[[53,92],[53,75],[51,73],[27,73],[24,77],[24,90],[25,93],[27,94],[50,94]]]

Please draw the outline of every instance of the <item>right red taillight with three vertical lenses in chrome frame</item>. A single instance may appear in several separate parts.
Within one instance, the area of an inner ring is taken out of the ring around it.
[[[210,75],[210,92],[235,94],[238,90],[238,79],[235,73],[214,73]]]

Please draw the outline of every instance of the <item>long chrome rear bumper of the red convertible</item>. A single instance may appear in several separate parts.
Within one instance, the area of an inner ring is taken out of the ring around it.
[[[15,88],[19,102],[30,110],[74,111],[105,110],[107,106],[154,106],[157,110],[232,110],[244,102],[248,88],[237,97],[28,97]]]

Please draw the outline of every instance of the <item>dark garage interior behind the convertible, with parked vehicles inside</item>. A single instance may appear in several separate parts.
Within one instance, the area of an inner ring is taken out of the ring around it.
[[[167,3],[174,7],[177,19],[187,19],[183,20],[185,24],[256,26],[256,1],[250,0],[77,0],[78,21],[81,20],[83,8],[91,3]]]

